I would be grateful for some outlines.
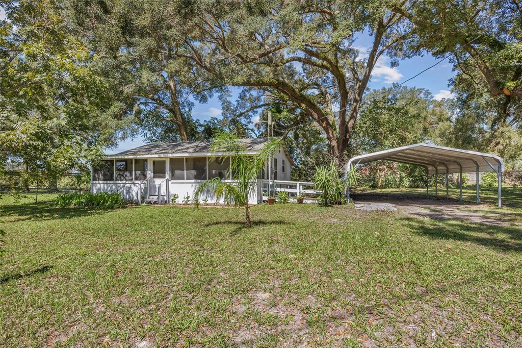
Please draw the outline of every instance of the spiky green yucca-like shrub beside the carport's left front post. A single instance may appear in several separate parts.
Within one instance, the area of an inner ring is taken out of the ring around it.
[[[321,190],[318,202],[330,206],[346,203],[346,179],[339,176],[333,162],[326,166],[315,168],[314,188]]]

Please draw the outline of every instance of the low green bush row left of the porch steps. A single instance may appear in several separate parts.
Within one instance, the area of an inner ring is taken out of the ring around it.
[[[62,193],[54,201],[54,206],[86,206],[100,208],[119,208],[125,206],[125,201],[120,193]]]

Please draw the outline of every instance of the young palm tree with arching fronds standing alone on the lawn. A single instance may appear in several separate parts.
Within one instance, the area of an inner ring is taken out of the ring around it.
[[[221,153],[215,157],[228,157],[232,180],[224,181],[221,178],[212,178],[201,183],[194,191],[194,202],[198,206],[199,198],[203,194],[213,193],[217,200],[223,198],[236,207],[245,208],[245,226],[251,227],[250,205],[248,197],[256,191],[257,175],[265,168],[267,161],[281,146],[278,140],[267,142],[256,155],[247,155],[246,149],[238,138],[230,133],[217,133],[212,141],[212,152]]]

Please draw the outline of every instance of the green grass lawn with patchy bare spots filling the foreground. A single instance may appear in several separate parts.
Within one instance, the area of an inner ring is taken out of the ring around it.
[[[520,346],[522,231],[350,206],[4,205],[3,346]]]

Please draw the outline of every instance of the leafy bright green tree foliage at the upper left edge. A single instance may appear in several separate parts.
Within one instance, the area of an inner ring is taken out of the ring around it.
[[[0,21],[0,167],[60,177],[113,145],[126,118],[92,54],[53,0],[3,2]],[[33,178],[34,179],[34,178]]]

